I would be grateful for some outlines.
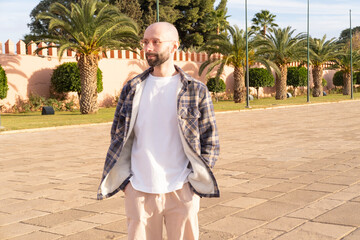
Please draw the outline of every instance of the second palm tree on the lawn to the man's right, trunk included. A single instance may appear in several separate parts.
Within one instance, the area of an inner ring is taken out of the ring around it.
[[[301,60],[306,55],[304,48],[305,34],[299,33],[293,36],[295,30],[291,27],[274,29],[265,38],[257,37],[254,46],[259,62],[263,63],[271,71],[276,72],[276,96],[277,100],[286,99],[287,65],[291,62]]]

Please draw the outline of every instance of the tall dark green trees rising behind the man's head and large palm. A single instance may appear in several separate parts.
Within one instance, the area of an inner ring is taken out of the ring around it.
[[[38,1],[30,13],[30,34],[25,36],[26,43],[30,40],[37,40],[40,35],[47,35],[49,20],[39,19],[36,16],[49,11],[50,5],[54,2],[61,3],[70,9],[71,3],[79,3],[79,0],[41,0]],[[102,0],[116,6],[123,14],[134,19],[140,29],[140,36],[145,28],[156,22],[156,1],[155,0]],[[207,41],[216,30],[206,28],[207,16],[214,11],[214,0],[167,0],[160,2],[160,21],[166,21],[176,26],[181,39],[181,48],[198,47]],[[226,12],[227,1],[220,1],[216,10]],[[224,23],[226,18],[221,17],[218,21]]]

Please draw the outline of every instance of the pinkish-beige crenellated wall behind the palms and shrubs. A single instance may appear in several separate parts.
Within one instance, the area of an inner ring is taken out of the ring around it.
[[[54,44],[52,44],[54,45]],[[2,44],[0,42],[0,64],[4,68],[9,91],[7,97],[0,100],[0,105],[9,108],[17,99],[27,99],[30,93],[49,97],[50,79],[56,66],[64,62],[75,62],[75,52],[66,51],[59,61],[57,48],[43,49],[35,55],[38,47],[46,46],[45,43],[36,45],[31,42],[27,46],[23,41],[14,44],[11,40]],[[99,94],[100,106],[107,105],[120,91],[124,83],[148,68],[144,60],[144,52],[137,50],[135,53],[126,50],[107,51],[99,62],[99,68],[103,72],[104,90]],[[220,58],[220,55],[216,56]],[[200,65],[208,59],[206,53],[178,51],[174,55],[175,64],[185,70],[192,77],[206,82],[205,73],[198,75]],[[289,66],[298,66],[299,63],[291,63]],[[253,67],[259,67],[255,64]],[[216,70],[216,69],[215,69]],[[204,71],[206,72],[206,71]],[[324,78],[328,82],[328,88],[332,88],[334,70],[325,70]],[[215,74],[215,71],[213,75]],[[233,92],[233,68],[226,66],[221,76],[226,83],[226,92]],[[312,79],[312,77],[311,77]],[[275,89],[260,88],[260,96],[271,96]],[[250,88],[250,94],[256,94],[256,90]]]

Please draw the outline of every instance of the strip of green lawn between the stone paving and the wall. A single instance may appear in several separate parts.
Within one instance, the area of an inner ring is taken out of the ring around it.
[[[360,93],[354,93],[354,99],[360,99]],[[324,97],[310,98],[311,103],[339,102],[344,100],[350,100],[350,96],[330,94]],[[307,104],[306,95],[288,98],[286,100],[262,98],[250,101],[250,107],[252,109],[300,104]],[[245,106],[246,103],[234,103],[233,101],[214,102],[216,112],[247,109]],[[82,115],[80,111],[55,112],[55,115],[41,115],[41,112],[2,113],[1,125],[4,128],[0,131],[112,122],[114,113],[115,108],[101,108],[97,114],[89,115]]]

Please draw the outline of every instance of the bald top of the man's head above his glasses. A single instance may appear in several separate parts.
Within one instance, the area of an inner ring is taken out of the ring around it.
[[[179,41],[179,33],[171,23],[156,22],[146,28],[144,38],[157,38],[161,41]]]

